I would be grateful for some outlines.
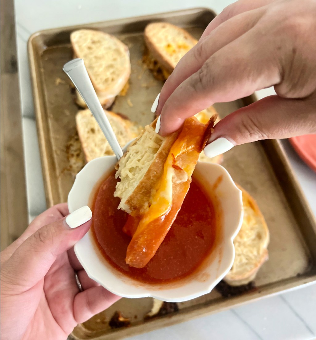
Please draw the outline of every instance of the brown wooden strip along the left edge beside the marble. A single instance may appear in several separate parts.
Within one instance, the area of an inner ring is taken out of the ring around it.
[[[13,1],[1,1],[1,250],[28,225]]]

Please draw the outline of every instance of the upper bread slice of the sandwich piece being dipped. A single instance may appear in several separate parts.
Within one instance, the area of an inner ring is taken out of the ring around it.
[[[170,147],[179,134],[175,132],[161,137],[155,133],[156,121],[145,127],[117,164],[115,176],[120,178],[120,182],[117,183],[114,196],[121,199],[118,208],[128,213],[147,209]]]

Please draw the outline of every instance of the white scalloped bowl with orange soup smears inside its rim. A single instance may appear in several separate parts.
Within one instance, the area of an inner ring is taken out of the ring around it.
[[[77,174],[68,195],[70,212],[84,205],[91,207],[97,183],[113,170],[116,162],[115,156],[96,158]],[[243,220],[242,193],[227,170],[220,165],[198,162],[194,176],[198,176],[199,182],[216,202],[214,207],[217,218],[220,218],[220,227],[217,227],[217,239],[211,254],[193,274],[170,284],[138,282],[106,262],[89,231],[74,246],[89,277],[112,293],[130,298],[152,296],[167,302],[182,302],[209,293],[233,265],[233,239]]]

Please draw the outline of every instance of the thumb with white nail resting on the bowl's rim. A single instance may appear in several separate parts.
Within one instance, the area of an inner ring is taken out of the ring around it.
[[[21,292],[44,278],[56,257],[70,249],[89,230],[92,211],[83,206],[47,224],[27,238],[5,262],[3,279]]]

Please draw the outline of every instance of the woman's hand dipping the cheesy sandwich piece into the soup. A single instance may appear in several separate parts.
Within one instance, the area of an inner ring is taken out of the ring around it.
[[[269,86],[277,96],[223,118],[210,141],[224,137],[232,146],[316,133],[315,18],[315,0],[239,0],[225,8],[163,86],[160,134],[216,102]]]

